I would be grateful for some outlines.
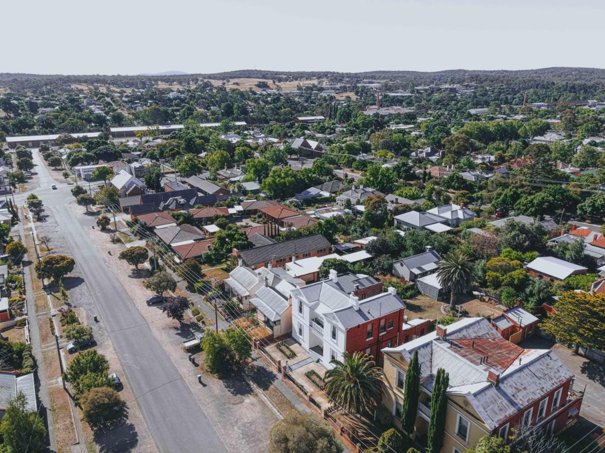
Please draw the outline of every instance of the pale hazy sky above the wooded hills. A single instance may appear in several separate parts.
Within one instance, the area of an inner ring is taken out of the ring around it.
[[[0,72],[605,68],[603,0],[6,0]]]

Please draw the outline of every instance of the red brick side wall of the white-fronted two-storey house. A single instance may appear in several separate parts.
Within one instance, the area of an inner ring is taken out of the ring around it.
[[[382,353],[380,353],[379,350],[387,347],[388,340],[392,340],[391,347],[396,347],[402,344],[401,326],[404,322],[404,313],[405,309],[402,308],[401,310],[382,316],[380,320],[386,320],[385,333],[382,335],[380,335],[379,332],[379,318],[348,329],[345,351],[350,354],[358,351],[365,353],[365,350],[370,348],[370,355],[374,356],[374,361],[381,361]],[[391,329],[388,329],[389,321],[393,321],[393,327]],[[373,326],[372,338],[366,339],[369,324],[372,324]],[[397,334],[399,334],[399,336]]]

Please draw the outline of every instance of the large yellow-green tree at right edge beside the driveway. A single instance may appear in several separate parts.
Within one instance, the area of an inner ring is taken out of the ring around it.
[[[555,303],[555,313],[547,312],[541,329],[561,344],[600,349],[605,344],[605,295],[567,291]]]

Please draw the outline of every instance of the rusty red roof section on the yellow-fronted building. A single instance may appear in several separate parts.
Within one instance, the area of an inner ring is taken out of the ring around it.
[[[502,373],[518,358],[523,348],[504,338],[471,338],[451,340],[451,351],[474,365],[485,364]]]

